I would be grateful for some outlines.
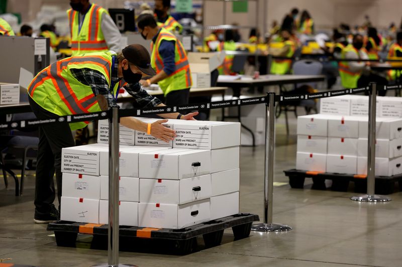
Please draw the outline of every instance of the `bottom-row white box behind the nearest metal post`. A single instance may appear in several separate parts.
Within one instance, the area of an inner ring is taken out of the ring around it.
[[[99,223],[109,223],[108,200],[99,200]],[[138,202],[119,201],[119,225],[138,226]]]

